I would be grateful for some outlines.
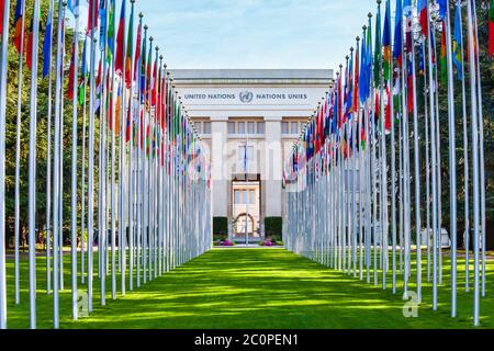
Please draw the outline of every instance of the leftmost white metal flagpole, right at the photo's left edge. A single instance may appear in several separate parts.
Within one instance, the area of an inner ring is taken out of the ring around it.
[[[5,270],[5,107],[10,0],[3,4],[0,68],[0,329],[7,329]]]

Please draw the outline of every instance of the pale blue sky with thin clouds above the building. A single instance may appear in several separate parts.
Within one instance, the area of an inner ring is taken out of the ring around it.
[[[373,0],[136,1],[171,69],[336,68],[375,8]]]

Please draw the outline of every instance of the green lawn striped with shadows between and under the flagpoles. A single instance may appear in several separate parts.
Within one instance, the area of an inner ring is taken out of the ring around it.
[[[445,285],[439,288],[439,310],[433,312],[430,285],[425,283],[419,317],[404,318],[401,293],[392,295],[391,290],[374,287],[283,249],[214,249],[135,292],[127,292],[125,297],[119,295],[111,301],[106,294],[105,307],[100,306],[100,285],[94,280],[94,312],[72,321],[69,257],[66,260],[61,328],[472,328],[473,324],[473,295],[463,292],[462,272],[457,319],[449,317],[447,270]],[[37,263],[38,328],[50,328],[52,297],[45,292],[45,261],[40,258]],[[13,262],[8,264],[9,328],[27,328],[27,262],[22,261],[22,304],[18,307],[13,304]],[[494,262],[490,262],[489,272],[481,321],[482,327],[494,328]],[[391,274],[389,281],[391,287]]]

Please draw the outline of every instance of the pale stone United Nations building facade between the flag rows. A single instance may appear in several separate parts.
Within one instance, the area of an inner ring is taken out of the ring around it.
[[[281,218],[282,168],[333,70],[172,70],[212,166],[212,213],[238,242]]]

